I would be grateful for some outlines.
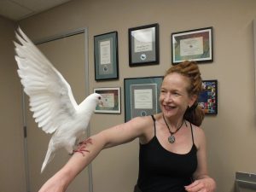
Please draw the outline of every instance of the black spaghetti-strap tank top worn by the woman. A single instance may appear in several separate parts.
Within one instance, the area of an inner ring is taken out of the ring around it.
[[[139,176],[137,187],[143,192],[185,192],[185,185],[192,183],[197,167],[192,125],[193,145],[188,154],[175,154],[163,148],[155,135],[146,144],[140,144]]]

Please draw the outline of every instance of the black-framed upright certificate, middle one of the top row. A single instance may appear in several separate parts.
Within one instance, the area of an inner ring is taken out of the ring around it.
[[[158,24],[129,29],[129,65],[146,64],[159,64]]]

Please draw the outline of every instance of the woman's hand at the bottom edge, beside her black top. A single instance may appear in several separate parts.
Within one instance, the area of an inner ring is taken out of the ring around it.
[[[216,183],[211,177],[205,177],[185,186],[188,192],[213,192],[216,189]]]

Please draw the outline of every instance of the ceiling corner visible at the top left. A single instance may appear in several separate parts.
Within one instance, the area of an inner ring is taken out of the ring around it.
[[[9,20],[22,20],[72,0],[0,0],[0,15]]]

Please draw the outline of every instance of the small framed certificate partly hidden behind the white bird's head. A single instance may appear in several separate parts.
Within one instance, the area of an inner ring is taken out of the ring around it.
[[[121,113],[120,88],[95,88],[102,95],[102,106],[96,106],[95,113]]]

